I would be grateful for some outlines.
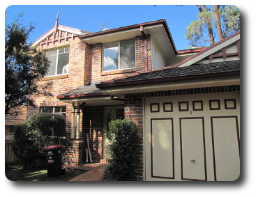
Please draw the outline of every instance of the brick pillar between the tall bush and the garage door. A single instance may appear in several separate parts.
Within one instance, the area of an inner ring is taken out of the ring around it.
[[[126,120],[133,121],[140,134],[140,172],[137,180],[143,180],[143,119],[142,119],[142,94],[125,95],[124,115]]]

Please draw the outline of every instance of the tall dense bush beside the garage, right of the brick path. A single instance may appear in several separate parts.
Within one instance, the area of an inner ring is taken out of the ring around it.
[[[107,131],[110,164],[103,180],[135,180],[139,170],[140,136],[137,125],[128,120],[112,120]]]

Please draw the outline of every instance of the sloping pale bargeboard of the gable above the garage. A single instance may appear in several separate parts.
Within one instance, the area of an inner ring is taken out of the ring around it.
[[[220,43],[216,47],[213,47],[212,49],[209,49],[208,51],[200,54],[199,56],[196,56],[195,58],[191,59],[190,61],[187,61],[187,62],[179,65],[179,67],[188,66],[188,65],[192,65],[193,63],[197,63],[198,61],[202,60],[203,58],[206,58],[207,56],[214,54],[215,52],[218,52],[220,49],[223,49],[224,47],[231,45],[232,43],[236,42],[237,40],[240,40],[240,33],[238,35],[234,36],[233,38],[230,38],[229,40],[226,40],[225,42]]]

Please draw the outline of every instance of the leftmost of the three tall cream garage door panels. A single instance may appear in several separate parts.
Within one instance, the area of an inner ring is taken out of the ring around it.
[[[151,119],[151,177],[174,179],[172,118]]]

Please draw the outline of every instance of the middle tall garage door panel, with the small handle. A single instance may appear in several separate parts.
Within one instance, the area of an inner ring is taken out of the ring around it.
[[[181,178],[207,180],[204,118],[180,118]]]

